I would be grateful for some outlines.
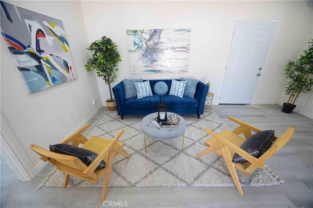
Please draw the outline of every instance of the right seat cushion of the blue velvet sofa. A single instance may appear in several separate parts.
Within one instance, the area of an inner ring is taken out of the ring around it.
[[[167,108],[197,108],[198,101],[190,97],[177,97],[174,95],[160,96],[160,102],[165,102]]]

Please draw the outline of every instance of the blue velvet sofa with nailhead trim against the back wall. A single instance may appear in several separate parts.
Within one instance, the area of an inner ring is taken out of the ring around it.
[[[176,79],[180,80],[180,79]],[[146,81],[146,80],[143,80]],[[124,83],[121,81],[112,88],[116,101],[117,114],[124,118],[124,115],[147,115],[157,112],[157,104],[166,102],[167,111],[183,114],[197,114],[198,118],[204,112],[204,103],[209,87],[199,81],[197,83],[194,98],[183,96],[182,98],[168,95],[171,89],[172,79],[149,80],[153,96],[137,99],[137,96],[126,99]],[[154,86],[158,81],[163,81],[168,86],[166,95],[156,95]]]

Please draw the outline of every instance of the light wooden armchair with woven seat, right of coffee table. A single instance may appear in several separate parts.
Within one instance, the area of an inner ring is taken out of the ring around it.
[[[241,188],[238,175],[235,168],[242,171],[246,175],[249,175],[255,168],[263,168],[266,164],[265,161],[275,154],[281,147],[283,147],[291,138],[295,128],[290,127],[280,136],[274,137],[274,142],[262,156],[256,158],[246,151],[239,148],[244,141],[252,135],[252,132],[262,132],[263,130],[258,129],[254,126],[251,126],[243,121],[240,121],[236,118],[228,116],[228,119],[234,121],[240,126],[234,131],[224,130],[219,134],[212,132],[209,129],[204,129],[205,132],[210,134],[212,137],[204,142],[207,148],[201,151],[197,156],[201,157],[205,154],[215,151],[220,156],[222,156],[226,162],[228,170],[231,174],[231,177],[234,181],[234,184],[238,192],[243,195],[244,192]],[[252,131],[252,132],[251,132]],[[243,133],[245,138],[241,137],[239,134]],[[248,162],[246,163],[233,163],[232,158],[237,152],[237,154],[243,156]]]

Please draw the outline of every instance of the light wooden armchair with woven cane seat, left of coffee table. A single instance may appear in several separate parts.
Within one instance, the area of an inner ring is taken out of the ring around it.
[[[81,143],[83,144],[81,148],[96,152],[98,156],[89,165],[89,167],[87,167],[79,158],[75,156],[47,151],[36,145],[30,145],[30,149],[38,153],[43,161],[52,163],[59,171],[65,173],[63,188],[67,186],[70,176],[75,176],[97,184],[100,178],[105,175],[101,195],[101,203],[103,203],[107,195],[114,158],[117,153],[120,153],[128,158],[131,155],[123,149],[124,143],[117,141],[124,133],[124,130],[118,132],[113,140],[95,136],[87,139],[81,133],[84,132],[89,126],[90,124],[86,124],[84,127],[74,132],[61,142],[61,144],[71,143],[76,147],[78,147]],[[95,170],[102,160],[105,161],[107,165],[106,168]]]

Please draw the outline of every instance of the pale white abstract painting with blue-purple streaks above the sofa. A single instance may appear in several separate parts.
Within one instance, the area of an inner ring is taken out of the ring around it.
[[[126,30],[131,74],[188,71],[191,29]]]

